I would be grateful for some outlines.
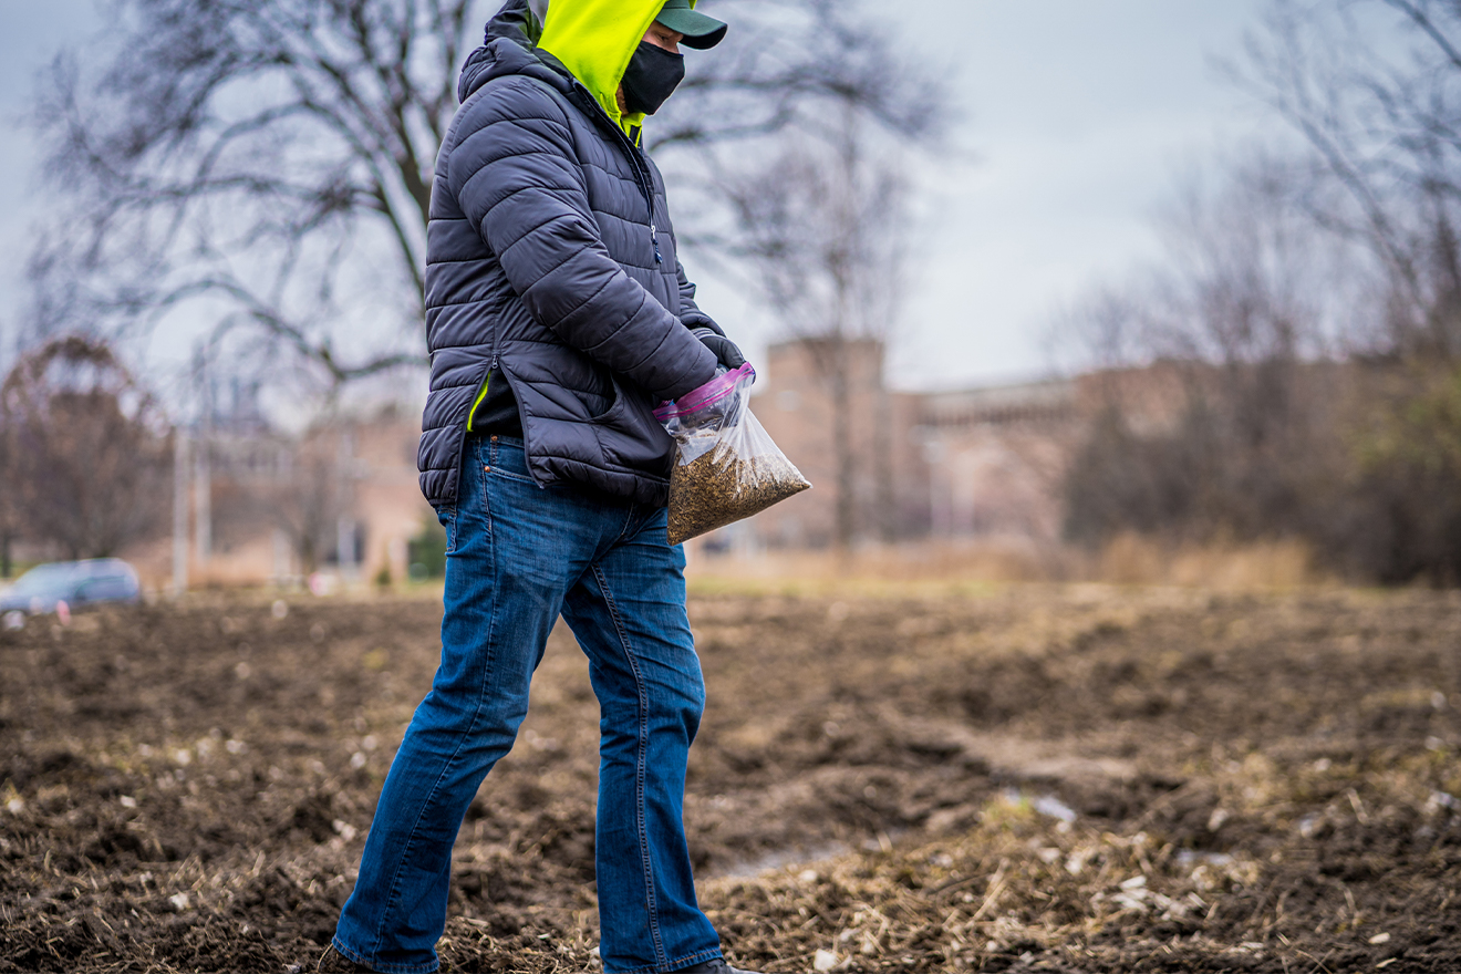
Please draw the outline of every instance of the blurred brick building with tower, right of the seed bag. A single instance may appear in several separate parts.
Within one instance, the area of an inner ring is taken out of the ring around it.
[[[847,343],[853,543],[915,537],[1056,542],[1061,482],[1088,423],[1121,402],[1147,428],[1180,409],[1160,367],[941,393],[887,388],[884,349]],[[768,349],[752,409],[814,489],[757,515],[739,536],[761,548],[834,542],[833,369],[817,342]]]

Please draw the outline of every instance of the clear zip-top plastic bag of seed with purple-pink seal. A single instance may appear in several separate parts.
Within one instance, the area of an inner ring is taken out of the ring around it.
[[[717,375],[655,416],[675,438],[669,475],[669,543],[679,545],[811,486],[766,432],[747,400],[749,364]]]

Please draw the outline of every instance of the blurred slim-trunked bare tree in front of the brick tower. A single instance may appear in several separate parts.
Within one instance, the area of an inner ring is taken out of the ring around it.
[[[799,29],[786,26],[787,4],[733,7],[770,12],[691,80],[693,98],[669,102],[659,145],[688,149],[671,166],[691,166],[671,174],[700,190],[691,242],[729,257],[780,334],[811,355],[831,413],[833,539],[846,549],[868,529],[891,539],[897,527],[881,358],[869,367],[865,352],[885,346],[904,296],[909,156],[941,147],[951,110],[937,66],[913,61],[884,22],[837,0],[790,6]],[[858,383],[878,400],[862,502]]]

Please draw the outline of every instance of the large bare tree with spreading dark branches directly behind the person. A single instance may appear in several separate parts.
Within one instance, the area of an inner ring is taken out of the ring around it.
[[[431,166],[497,6],[110,0],[108,38],[58,58],[35,111],[75,203],[32,260],[51,327],[186,310],[262,331],[273,358],[332,384],[422,362]],[[885,83],[894,38],[844,7],[735,4],[730,39],[650,139],[700,152],[780,131],[828,96],[890,120],[926,111]]]

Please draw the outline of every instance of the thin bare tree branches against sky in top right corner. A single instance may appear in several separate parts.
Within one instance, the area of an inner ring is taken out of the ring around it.
[[[1375,261],[1370,348],[1461,355],[1461,6],[1273,0],[1230,70],[1306,146],[1293,197]]]

